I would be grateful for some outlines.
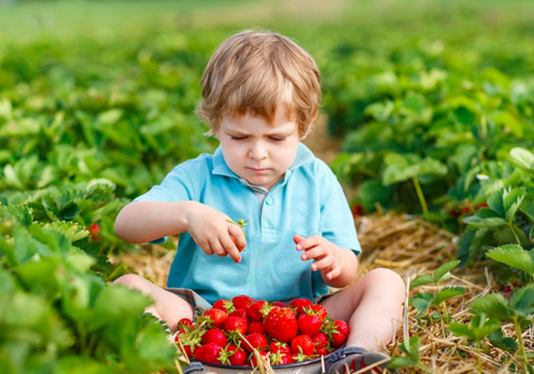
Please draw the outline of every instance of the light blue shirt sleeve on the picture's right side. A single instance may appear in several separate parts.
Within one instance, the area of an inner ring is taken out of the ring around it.
[[[321,201],[322,236],[342,248],[352,249],[355,254],[360,254],[362,248],[358,241],[354,217],[350,211],[347,197],[340,182],[328,165],[321,167],[321,185],[323,196]]]

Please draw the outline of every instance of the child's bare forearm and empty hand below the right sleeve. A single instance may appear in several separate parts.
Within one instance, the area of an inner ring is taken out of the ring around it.
[[[297,251],[304,251],[300,256],[303,261],[315,260],[311,265],[313,271],[321,271],[326,284],[340,288],[355,279],[358,269],[356,254],[350,249],[341,248],[320,236],[293,237]]]

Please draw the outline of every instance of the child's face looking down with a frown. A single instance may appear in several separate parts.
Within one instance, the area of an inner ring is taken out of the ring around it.
[[[297,154],[297,124],[287,110],[276,111],[273,124],[251,115],[223,117],[215,135],[230,169],[252,185],[271,189]]]

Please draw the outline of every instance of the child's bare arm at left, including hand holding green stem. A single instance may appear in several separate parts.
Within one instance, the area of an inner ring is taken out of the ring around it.
[[[115,219],[115,234],[130,243],[147,243],[170,235],[189,232],[206,254],[241,261],[245,248],[243,231],[229,222],[226,214],[192,201],[132,202]]]

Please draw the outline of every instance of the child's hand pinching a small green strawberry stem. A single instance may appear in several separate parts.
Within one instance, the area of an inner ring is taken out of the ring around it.
[[[198,204],[188,214],[187,231],[205,254],[230,255],[241,261],[246,238],[243,229],[230,217],[204,204]]]

